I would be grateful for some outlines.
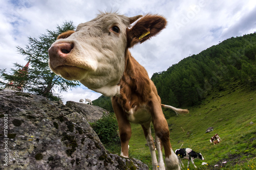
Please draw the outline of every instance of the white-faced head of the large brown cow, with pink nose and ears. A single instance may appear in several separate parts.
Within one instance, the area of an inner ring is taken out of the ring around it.
[[[126,17],[101,13],[58,36],[49,48],[49,66],[67,80],[78,80],[106,96],[119,94],[127,48],[158,34],[166,26],[159,15]]]

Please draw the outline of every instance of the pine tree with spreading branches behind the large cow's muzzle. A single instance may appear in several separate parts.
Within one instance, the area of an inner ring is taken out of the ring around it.
[[[3,79],[3,81],[0,80],[0,84],[8,86],[12,81],[16,82],[13,85],[18,86],[23,83],[23,89],[26,92],[39,94],[50,100],[60,100],[60,95],[55,93],[55,90],[67,91],[68,88],[76,87],[80,83],[65,80],[52,72],[48,66],[48,49],[60,33],[74,29],[73,22],[66,21],[62,26],[57,26],[56,31],[47,30],[46,34],[41,34],[38,38],[29,37],[29,44],[25,48],[17,46],[18,53],[24,55],[25,60],[30,62],[26,74],[20,71],[24,66],[15,63],[15,69],[11,69],[12,74],[7,74],[5,69],[0,69]]]

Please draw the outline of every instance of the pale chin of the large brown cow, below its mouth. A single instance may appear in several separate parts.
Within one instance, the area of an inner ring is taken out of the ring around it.
[[[56,74],[67,80],[81,80],[86,76],[87,72],[87,69],[70,65],[61,65],[56,68]]]

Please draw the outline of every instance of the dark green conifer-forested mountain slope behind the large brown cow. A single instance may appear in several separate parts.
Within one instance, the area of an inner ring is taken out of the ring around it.
[[[198,105],[211,89],[221,91],[231,82],[254,89],[255,56],[256,33],[232,37],[181,60],[166,71],[155,73],[151,79],[163,104],[176,107]],[[101,96],[93,103],[113,111],[110,98]]]

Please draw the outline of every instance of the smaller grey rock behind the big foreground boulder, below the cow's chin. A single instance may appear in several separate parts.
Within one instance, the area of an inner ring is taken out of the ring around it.
[[[79,114],[82,114],[84,117],[86,117],[88,122],[96,122],[98,119],[100,119],[103,115],[103,113],[109,113],[105,109],[102,109],[99,106],[93,106],[89,104],[84,103],[77,103],[73,101],[68,101],[66,103],[66,106],[71,108],[72,110],[78,112]]]

